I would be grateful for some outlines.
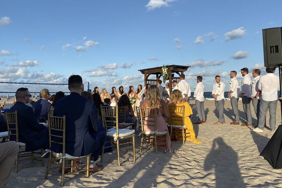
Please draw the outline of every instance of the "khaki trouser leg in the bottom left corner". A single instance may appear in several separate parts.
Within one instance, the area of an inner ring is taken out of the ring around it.
[[[6,188],[14,167],[19,145],[15,141],[0,144],[0,187]]]

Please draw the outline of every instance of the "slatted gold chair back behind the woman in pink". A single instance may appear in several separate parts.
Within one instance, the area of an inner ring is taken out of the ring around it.
[[[151,131],[156,131],[156,113],[156,108],[140,108],[142,131],[144,126],[150,127]]]

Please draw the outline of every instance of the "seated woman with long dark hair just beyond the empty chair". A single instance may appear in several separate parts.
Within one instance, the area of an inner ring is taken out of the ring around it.
[[[134,116],[134,111],[132,108],[132,105],[130,103],[129,98],[127,95],[122,95],[120,97],[120,100],[117,102],[118,107],[125,107],[125,121],[126,123],[135,123],[135,125],[132,125],[132,128],[135,129],[137,118]],[[119,123],[124,123],[124,119],[118,119]],[[127,127],[126,125],[123,126],[123,128]]]

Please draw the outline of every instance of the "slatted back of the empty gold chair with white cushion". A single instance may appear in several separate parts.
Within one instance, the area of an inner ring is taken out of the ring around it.
[[[116,128],[118,135],[118,106],[108,107],[100,105],[102,125],[106,130]]]

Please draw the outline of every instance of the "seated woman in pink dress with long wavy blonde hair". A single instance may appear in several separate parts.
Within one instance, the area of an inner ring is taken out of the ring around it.
[[[169,112],[167,110],[167,105],[165,104],[164,100],[160,99],[160,93],[159,89],[156,85],[151,85],[148,87],[146,91],[146,99],[141,103],[140,108],[157,108],[157,114],[156,114],[156,129],[159,132],[168,132],[168,127],[166,124],[166,119],[169,118]],[[146,117],[145,124],[150,124],[150,122],[147,122],[146,120],[154,120],[154,117]],[[153,131],[153,126],[144,126],[145,131]],[[158,140],[164,140],[166,139],[166,136],[157,136]],[[171,141],[169,134],[167,136],[167,147],[169,151],[171,151]],[[165,141],[158,141],[157,144],[165,144]],[[158,148],[165,150],[166,146],[161,145],[158,146]]]

